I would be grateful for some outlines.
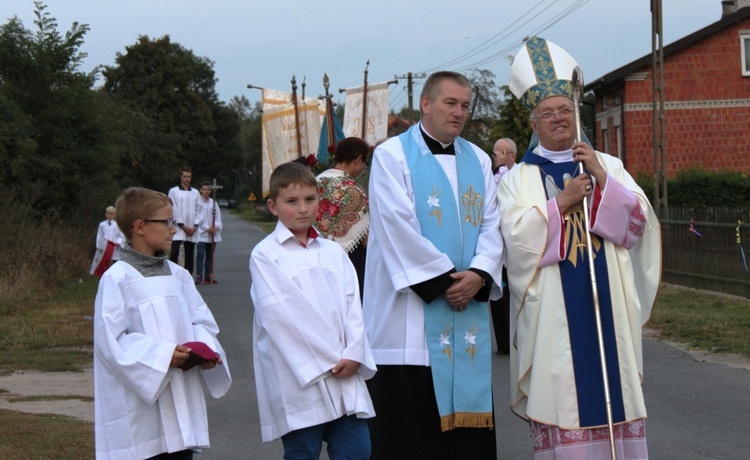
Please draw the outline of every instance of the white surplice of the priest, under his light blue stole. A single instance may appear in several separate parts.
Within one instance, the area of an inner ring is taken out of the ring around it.
[[[484,173],[484,209],[479,239],[470,267],[495,281],[490,297],[502,295],[503,240],[495,202],[496,183],[489,156],[472,144]],[[456,158],[436,155],[448,176],[454,199],[457,192]],[[423,237],[417,220],[411,173],[398,137],[380,145],[373,155],[370,173],[370,236],[365,269],[364,315],[375,362],[383,365],[430,364],[425,337],[424,301],[411,286],[433,279],[452,268],[448,256]]]

